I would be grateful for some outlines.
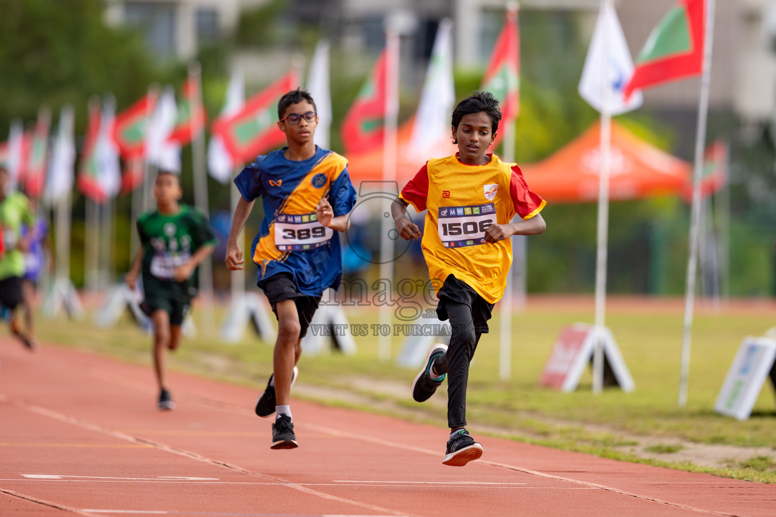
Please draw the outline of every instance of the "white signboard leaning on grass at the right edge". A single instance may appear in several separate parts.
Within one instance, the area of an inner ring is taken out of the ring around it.
[[[734,419],[746,420],[771,373],[776,359],[776,340],[747,336],[730,365],[714,411]]]

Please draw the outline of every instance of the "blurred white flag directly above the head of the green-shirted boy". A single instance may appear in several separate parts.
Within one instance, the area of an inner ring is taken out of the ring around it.
[[[169,140],[177,118],[175,89],[168,85],[148,120],[146,132],[146,159],[164,171],[181,171],[181,146]]]

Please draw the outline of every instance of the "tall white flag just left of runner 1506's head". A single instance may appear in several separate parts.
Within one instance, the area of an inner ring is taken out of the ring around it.
[[[456,88],[452,79],[452,21],[443,19],[437,29],[431,62],[417,105],[412,129],[412,150],[434,157],[440,146],[449,140],[450,118],[456,103]]]

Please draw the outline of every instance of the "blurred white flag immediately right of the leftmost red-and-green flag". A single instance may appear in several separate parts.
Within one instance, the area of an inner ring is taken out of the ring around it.
[[[54,148],[49,162],[48,181],[43,195],[53,205],[70,195],[75,176],[75,142],[73,106],[64,105],[59,115],[59,129],[54,140]]]

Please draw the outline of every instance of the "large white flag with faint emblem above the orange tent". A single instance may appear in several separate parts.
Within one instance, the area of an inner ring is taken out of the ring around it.
[[[587,49],[579,85],[580,96],[599,112],[604,108],[605,99],[608,99],[611,115],[637,109],[644,101],[641,91],[634,92],[628,102],[622,95],[632,75],[633,60],[617,12],[608,2],[603,2]]]

